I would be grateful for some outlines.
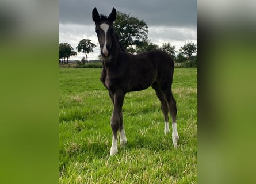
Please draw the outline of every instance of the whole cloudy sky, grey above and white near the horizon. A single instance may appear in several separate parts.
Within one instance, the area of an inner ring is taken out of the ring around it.
[[[187,41],[197,44],[197,1],[196,0],[60,0],[59,43],[69,43],[75,48],[82,39],[96,44],[88,60],[100,54],[92,11],[108,16],[112,8],[144,20],[148,26],[148,39],[159,46],[170,42],[178,51]],[[70,60],[81,60],[78,53]]]

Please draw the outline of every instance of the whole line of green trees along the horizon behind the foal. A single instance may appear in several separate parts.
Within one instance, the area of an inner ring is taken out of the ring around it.
[[[139,20],[137,17],[131,17],[130,14],[117,12],[116,21],[114,22],[115,33],[119,36],[119,40],[123,49],[129,53],[140,53],[144,51],[150,51],[152,49],[159,49],[168,53],[177,62],[189,61],[193,53],[197,53],[197,45],[191,41],[185,42],[185,44],[177,52],[175,45],[171,43],[163,43],[162,47],[152,43],[148,39],[148,26],[144,20]],[[93,52],[93,48],[96,47],[91,40],[82,39],[79,41],[76,47],[77,52],[85,53],[85,57],[82,59],[83,63],[88,63],[87,54]],[[68,43],[59,44],[59,63],[68,63],[70,56],[76,56],[77,52]],[[176,54],[177,53],[177,54]]]

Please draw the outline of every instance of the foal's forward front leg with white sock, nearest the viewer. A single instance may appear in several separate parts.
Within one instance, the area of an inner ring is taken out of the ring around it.
[[[116,93],[113,94],[113,100],[114,100],[114,108],[113,108],[113,113],[112,113],[112,117],[110,120],[110,125],[112,128],[112,146],[110,149],[110,156],[114,155],[118,152],[117,150],[117,131],[120,128],[120,117],[122,116],[121,114],[121,110],[122,110],[122,106],[123,106],[123,102],[124,102],[124,95],[125,93],[123,93],[122,91],[117,91]],[[123,120],[123,117],[121,117]],[[121,125],[121,126],[122,126]]]

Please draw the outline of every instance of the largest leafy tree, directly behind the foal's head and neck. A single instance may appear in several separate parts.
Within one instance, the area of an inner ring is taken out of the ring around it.
[[[119,35],[124,49],[133,49],[132,45],[140,46],[147,41],[148,27],[144,20],[131,17],[130,14],[117,11],[114,30]]]

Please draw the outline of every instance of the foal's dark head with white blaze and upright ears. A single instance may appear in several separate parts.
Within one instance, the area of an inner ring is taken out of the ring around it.
[[[109,57],[114,36],[113,21],[116,20],[116,9],[108,17],[100,16],[96,8],[93,9],[93,21],[95,22],[98,41],[101,47],[101,55]]]

